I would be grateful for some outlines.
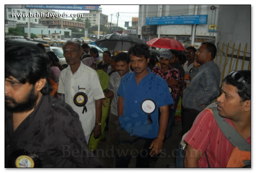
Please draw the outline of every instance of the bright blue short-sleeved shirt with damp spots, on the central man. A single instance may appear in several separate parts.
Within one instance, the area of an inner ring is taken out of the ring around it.
[[[130,135],[156,138],[159,130],[158,108],[173,103],[167,82],[149,72],[137,85],[135,72],[130,72],[122,78],[117,94],[124,98],[123,115],[119,117],[122,128]],[[151,113],[152,124],[148,124],[148,116],[141,109],[146,99],[156,103],[156,109]]]

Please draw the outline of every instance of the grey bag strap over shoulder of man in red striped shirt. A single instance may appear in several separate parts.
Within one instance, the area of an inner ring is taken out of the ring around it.
[[[237,146],[240,150],[251,151],[251,145],[234,129],[225,118],[219,115],[219,111],[216,107],[211,107],[212,114],[216,120],[221,132],[226,136],[232,145]]]

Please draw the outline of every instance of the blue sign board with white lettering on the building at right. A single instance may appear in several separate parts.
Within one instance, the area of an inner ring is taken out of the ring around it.
[[[163,17],[147,17],[146,25],[162,24],[207,24],[208,15],[178,15]]]

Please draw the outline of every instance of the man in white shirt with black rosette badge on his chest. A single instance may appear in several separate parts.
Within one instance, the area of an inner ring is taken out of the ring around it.
[[[60,73],[58,96],[78,113],[88,144],[92,130],[95,139],[101,134],[100,100],[105,96],[97,72],[80,61],[80,44],[70,40],[62,48],[69,66]]]

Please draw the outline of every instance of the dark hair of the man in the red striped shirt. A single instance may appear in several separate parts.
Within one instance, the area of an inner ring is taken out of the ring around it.
[[[251,70],[241,70],[237,71],[244,77],[244,80],[249,86],[251,86]],[[241,97],[242,101],[251,100],[251,90],[246,88],[246,86],[242,82],[237,82],[231,74],[227,75],[223,82],[229,85],[236,86],[238,89],[238,95]]]

